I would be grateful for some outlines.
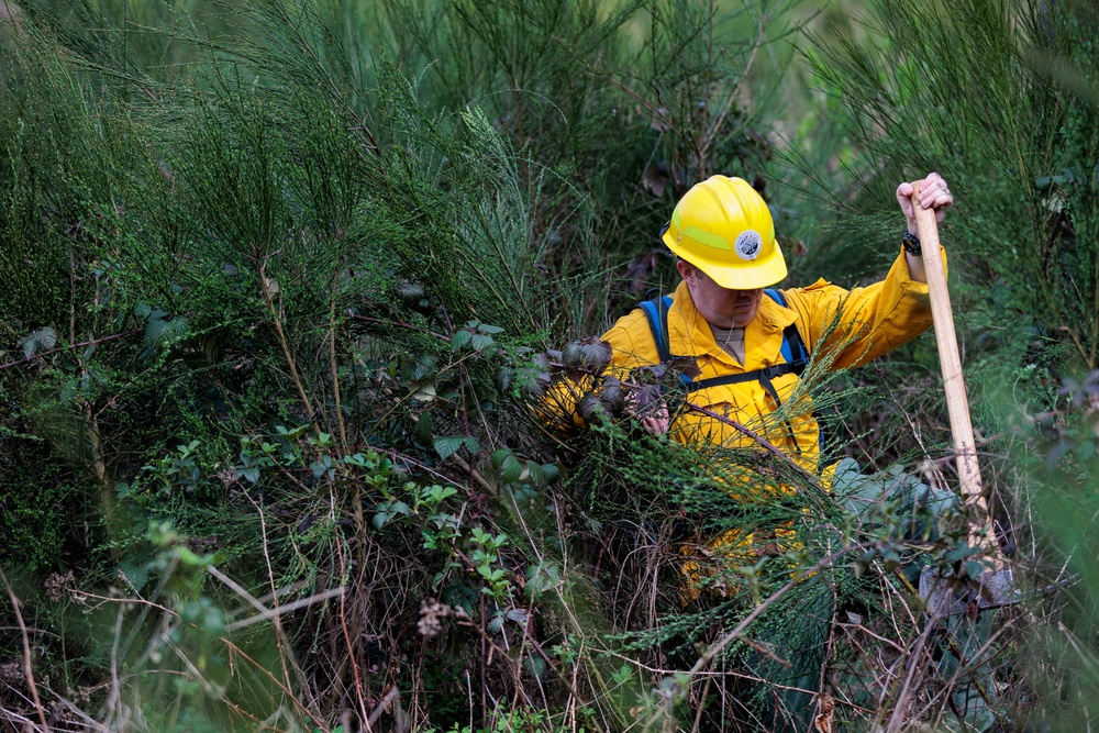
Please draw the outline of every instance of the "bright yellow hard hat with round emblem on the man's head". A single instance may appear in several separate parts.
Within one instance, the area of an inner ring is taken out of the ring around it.
[[[786,277],[770,210],[742,178],[696,184],[679,199],[662,238],[722,288],[754,290]]]

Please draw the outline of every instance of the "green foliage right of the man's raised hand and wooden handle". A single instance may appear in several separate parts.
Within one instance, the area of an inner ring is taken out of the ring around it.
[[[1094,698],[1086,671],[1094,645],[1083,640],[1094,638],[1084,618],[1096,586],[1073,558],[1090,556],[1095,542],[1085,519],[1092,514],[1080,502],[1094,482],[1085,375],[1099,348],[1091,245],[1099,222],[1092,175],[1099,14],[1092,3],[1074,1],[884,0],[868,27],[874,43],[839,33],[810,55],[857,151],[851,165],[867,184],[846,203],[872,213],[846,218],[840,234],[878,236],[877,212],[892,207],[886,201],[895,181],[930,169],[951,181],[958,206],[943,240],[970,401],[987,446],[983,473],[995,477],[1007,551],[1026,559],[1015,578],[1042,598],[1029,617],[1040,643],[1008,641],[999,652],[1012,665],[999,675],[1001,688],[990,691],[991,673],[975,673],[983,726],[998,717],[1000,726],[1073,730],[1091,714],[1085,701]],[[924,424],[912,399],[918,389],[890,389],[902,396],[891,400],[903,411],[902,432]],[[932,435],[945,437],[946,426],[923,433],[923,442],[939,440]],[[944,559],[969,577],[980,571],[965,545]],[[1065,581],[1068,566],[1077,567],[1078,582]],[[1073,659],[1065,677],[1034,674],[1061,655]],[[966,720],[978,718],[970,709]]]

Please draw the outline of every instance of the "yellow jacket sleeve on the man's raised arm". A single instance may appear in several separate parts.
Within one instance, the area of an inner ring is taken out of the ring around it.
[[[818,280],[786,296],[810,352],[829,359],[829,369],[862,366],[932,323],[928,285],[911,279],[903,249],[880,282],[845,290]]]

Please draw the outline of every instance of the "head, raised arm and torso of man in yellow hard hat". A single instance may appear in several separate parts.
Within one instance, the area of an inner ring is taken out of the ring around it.
[[[743,179],[724,176],[687,191],[663,233],[682,276],[670,303],[656,303],[655,314],[639,308],[602,336],[613,349],[613,371],[678,356],[697,362],[700,374],[686,384],[688,409],[669,424],[664,404],[635,406],[643,427],[725,447],[762,438],[807,470],[819,470],[820,429],[811,409],[775,418],[795,393],[804,357],[824,359],[829,369],[858,366],[931,325],[912,192],[910,184],[897,187],[907,233],[884,280],[852,290],[818,280],[765,295],[787,269],[763,197]],[[934,209],[941,221],[953,202],[946,181],[929,174],[919,206]],[[791,341],[800,343],[791,347]]]

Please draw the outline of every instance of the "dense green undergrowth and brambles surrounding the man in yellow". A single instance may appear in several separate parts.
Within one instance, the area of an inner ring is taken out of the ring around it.
[[[689,0],[3,9],[0,725],[1089,720],[1088,4],[882,0],[810,36]],[[784,135],[761,67],[790,41],[813,104]],[[792,279],[850,285],[931,169],[1025,602],[942,619],[913,587],[981,569],[930,515],[955,480],[929,337],[811,370],[831,489],[646,437],[614,385],[587,431],[545,414],[604,364],[574,340],[670,286],[656,233],[696,180],[754,179]]]

